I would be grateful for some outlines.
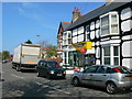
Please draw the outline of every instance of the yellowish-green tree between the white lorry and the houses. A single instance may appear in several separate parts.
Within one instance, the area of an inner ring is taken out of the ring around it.
[[[50,50],[46,52],[46,58],[52,58],[53,56],[56,56],[57,54],[57,47],[54,45],[48,45]]]

